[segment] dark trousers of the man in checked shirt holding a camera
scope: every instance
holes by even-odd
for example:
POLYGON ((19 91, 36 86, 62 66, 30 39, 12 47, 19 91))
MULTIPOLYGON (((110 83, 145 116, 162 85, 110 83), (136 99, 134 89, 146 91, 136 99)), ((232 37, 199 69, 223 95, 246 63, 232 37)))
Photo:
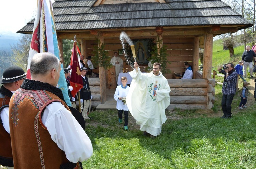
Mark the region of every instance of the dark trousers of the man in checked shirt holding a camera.
POLYGON ((231 104, 234 98, 234 94, 223 94, 221 100, 221 107, 223 112, 223 117, 231 117, 231 104))

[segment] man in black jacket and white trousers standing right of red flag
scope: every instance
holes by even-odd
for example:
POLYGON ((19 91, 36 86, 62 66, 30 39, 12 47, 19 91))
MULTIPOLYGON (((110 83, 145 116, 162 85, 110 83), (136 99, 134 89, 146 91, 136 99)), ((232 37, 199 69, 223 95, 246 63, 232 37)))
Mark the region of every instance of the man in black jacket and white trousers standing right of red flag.
POLYGON ((81 113, 84 117, 84 120, 86 120, 86 119, 90 119, 90 117, 88 117, 88 108, 90 105, 90 100, 93 98, 93 96, 91 95, 89 81, 88 81, 88 78, 86 77, 86 73, 88 71, 87 68, 81 67, 80 71, 81 71, 81 76, 83 80, 83 88, 80 89, 80 104, 81 104, 81 111, 82 111, 81 113))

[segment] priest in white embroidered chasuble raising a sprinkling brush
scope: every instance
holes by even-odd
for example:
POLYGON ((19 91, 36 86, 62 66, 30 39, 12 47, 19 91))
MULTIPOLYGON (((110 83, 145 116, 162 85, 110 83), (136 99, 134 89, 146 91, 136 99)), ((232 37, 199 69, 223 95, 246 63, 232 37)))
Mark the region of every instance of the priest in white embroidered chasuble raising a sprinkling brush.
POLYGON ((165 109, 170 105, 170 86, 160 72, 160 63, 154 63, 150 73, 141 73, 137 62, 134 67, 136 69, 129 72, 133 80, 126 104, 143 134, 155 138, 160 135, 162 124, 166 121, 165 109))

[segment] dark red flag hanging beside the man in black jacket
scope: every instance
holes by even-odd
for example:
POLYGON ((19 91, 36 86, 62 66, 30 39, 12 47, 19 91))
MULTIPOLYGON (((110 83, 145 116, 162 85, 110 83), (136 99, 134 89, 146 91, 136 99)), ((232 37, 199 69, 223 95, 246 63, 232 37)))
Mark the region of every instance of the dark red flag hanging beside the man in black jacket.
POLYGON ((72 97, 75 97, 76 93, 82 89, 83 87, 83 80, 80 72, 78 57, 75 50, 75 43, 71 55, 72 67, 71 67, 71 76, 70 76, 70 86, 73 87, 71 91, 72 97))

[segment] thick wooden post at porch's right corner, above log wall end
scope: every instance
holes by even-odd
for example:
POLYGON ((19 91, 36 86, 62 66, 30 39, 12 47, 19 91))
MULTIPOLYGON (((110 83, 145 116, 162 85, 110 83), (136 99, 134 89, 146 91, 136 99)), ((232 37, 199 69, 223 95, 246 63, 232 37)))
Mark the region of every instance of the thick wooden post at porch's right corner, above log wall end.
POLYGON ((212 77, 212 45, 213 34, 205 34, 203 51, 203 79, 211 79, 212 77))

